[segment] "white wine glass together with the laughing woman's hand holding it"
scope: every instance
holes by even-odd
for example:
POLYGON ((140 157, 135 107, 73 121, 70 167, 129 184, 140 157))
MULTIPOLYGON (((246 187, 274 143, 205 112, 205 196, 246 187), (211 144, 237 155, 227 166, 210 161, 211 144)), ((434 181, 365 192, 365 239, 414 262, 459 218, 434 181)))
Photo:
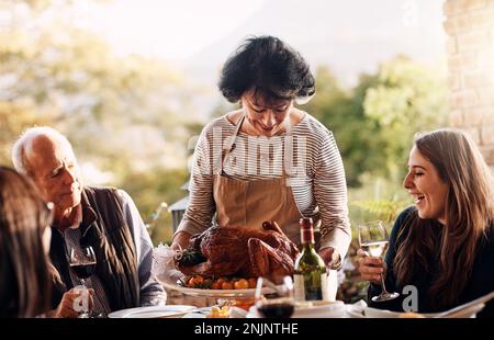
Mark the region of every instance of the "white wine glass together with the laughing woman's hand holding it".
POLYGON ((362 280, 380 284, 382 292, 379 296, 372 297, 373 302, 384 302, 400 296, 398 293, 389 293, 385 286, 385 262, 382 256, 389 245, 389 235, 385 225, 381 220, 359 225, 359 243, 362 249, 358 254, 359 271, 362 280))

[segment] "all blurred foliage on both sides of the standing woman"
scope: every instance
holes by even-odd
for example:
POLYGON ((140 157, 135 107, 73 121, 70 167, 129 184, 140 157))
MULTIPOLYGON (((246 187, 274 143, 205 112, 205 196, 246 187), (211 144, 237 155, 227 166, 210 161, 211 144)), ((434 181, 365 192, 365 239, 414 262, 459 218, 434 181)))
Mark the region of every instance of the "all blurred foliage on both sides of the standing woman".
MULTIPOLYGON (((114 55, 98 35, 71 25, 64 12, 71 4, 0 2, 13 13, 0 29, 0 162, 11 165, 23 129, 54 126, 71 140, 88 183, 123 188, 150 222, 161 202, 187 195, 189 141, 232 105, 217 92, 217 105, 203 112, 193 100, 203 89, 161 60, 114 55)), ((351 89, 328 65, 315 75, 317 94, 301 109, 335 135, 352 224, 392 222, 411 203, 401 183, 414 134, 446 125, 445 72, 396 56, 351 89)), ((169 241, 170 214, 150 230, 155 243, 169 241)))

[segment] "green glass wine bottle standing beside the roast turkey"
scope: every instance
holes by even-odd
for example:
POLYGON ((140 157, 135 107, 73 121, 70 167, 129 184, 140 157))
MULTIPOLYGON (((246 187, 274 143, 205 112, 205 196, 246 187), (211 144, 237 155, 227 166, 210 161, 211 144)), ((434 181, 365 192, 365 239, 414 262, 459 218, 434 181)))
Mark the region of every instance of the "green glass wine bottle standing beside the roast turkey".
POLYGON ((312 218, 300 219, 302 252, 295 260, 295 301, 327 301, 326 264, 314 249, 312 218))

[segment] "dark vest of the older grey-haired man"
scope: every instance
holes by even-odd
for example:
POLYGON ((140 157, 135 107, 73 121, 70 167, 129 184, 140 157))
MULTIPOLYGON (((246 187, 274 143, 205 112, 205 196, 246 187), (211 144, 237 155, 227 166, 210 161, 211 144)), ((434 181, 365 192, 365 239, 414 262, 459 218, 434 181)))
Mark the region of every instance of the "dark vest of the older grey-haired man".
MULTIPOLYGON (((91 246, 97 257, 96 274, 100 279, 111 310, 139 306, 139 281, 133 233, 125 222, 123 202, 116 189, 85 188, 81 197, 81 246, 91 246)), ((68 252, 61 233, 53 228, 49 251, 60 274, 53 308, 63 294, 72 287, 68 252)))

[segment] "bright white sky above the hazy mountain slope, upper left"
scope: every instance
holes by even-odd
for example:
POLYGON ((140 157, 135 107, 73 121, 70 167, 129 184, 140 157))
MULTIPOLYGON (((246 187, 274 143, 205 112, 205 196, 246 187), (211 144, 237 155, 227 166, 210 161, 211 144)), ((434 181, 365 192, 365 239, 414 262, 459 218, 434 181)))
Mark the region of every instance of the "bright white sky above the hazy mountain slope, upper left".
POLYGON ((79 24, 106 37, 120 55, 183 60, 235 30, 265 0, 77 1, 79 24), (239 9, 242 7, 242 10, 239 9))

